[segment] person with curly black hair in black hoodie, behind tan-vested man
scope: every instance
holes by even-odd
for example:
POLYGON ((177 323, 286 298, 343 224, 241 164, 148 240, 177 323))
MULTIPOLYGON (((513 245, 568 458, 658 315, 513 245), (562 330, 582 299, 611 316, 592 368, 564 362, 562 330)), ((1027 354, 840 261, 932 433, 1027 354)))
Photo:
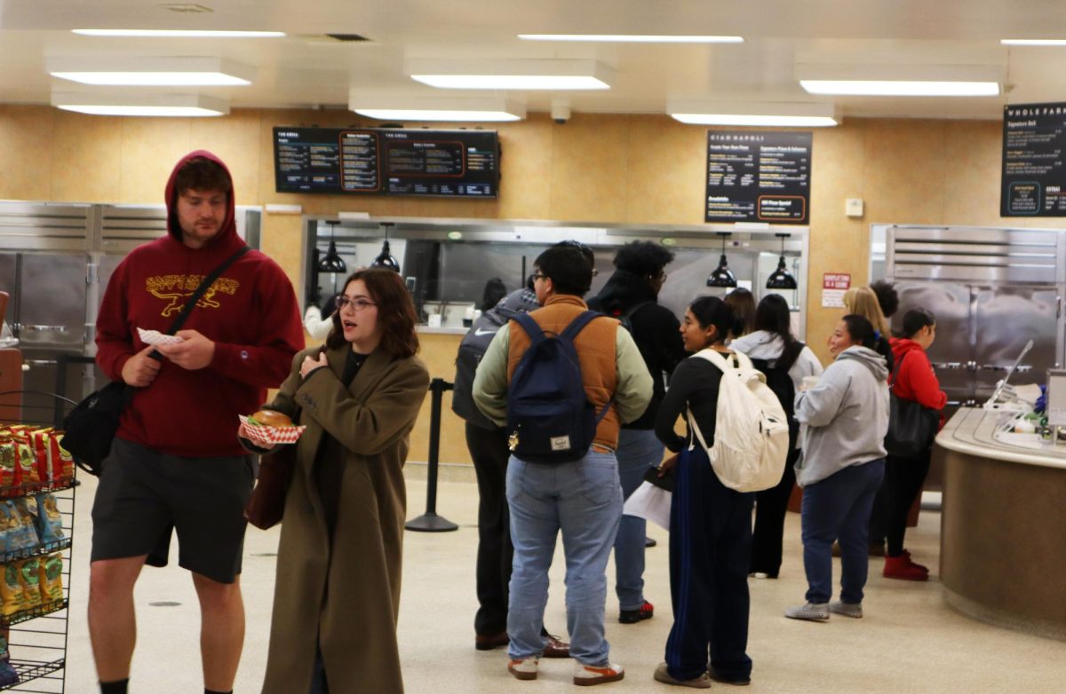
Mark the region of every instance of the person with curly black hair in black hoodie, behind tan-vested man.
MULTIPOLYGON (((666 392, 665 383, 674 367, 685 358, 678 321, 674 313, 658 303, 666 281, 665 267, 674 253, 659 244, 634 241, 618 249, 614 275, 600 293, 588 301, 593 311, 621 319, 633 335, 641 357, 651 374, 651 403, 644 414, 624 425, 618 436, 618 475, 621 492, 629 498, 643 481, 648 467, 662 461, 663 445, 656 439, 656 414, 666 392)), ((624 515, 614 543, 615 592, 623 624, 651 618, 655 606, 644 599, 644 518, 624 515)))

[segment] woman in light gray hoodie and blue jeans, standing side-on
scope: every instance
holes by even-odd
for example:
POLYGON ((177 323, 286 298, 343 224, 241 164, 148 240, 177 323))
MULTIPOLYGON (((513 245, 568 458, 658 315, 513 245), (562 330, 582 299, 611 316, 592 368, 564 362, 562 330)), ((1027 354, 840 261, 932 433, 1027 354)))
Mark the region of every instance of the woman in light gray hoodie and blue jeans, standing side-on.
MULTIPOLYGON (((883 341, 882 341, 883 342, 883 341)), ((789 608, 793 619, 862 616, 870 509, 885 476, 888 366, 873 326, 846 315, 829 337, 836 361, 819 384, 796 396, 804 425, 796 482, 803 488, 801 522, 807 602, 789 608), (833 542, 841 550, 840 600, 833 596, 833 542)))

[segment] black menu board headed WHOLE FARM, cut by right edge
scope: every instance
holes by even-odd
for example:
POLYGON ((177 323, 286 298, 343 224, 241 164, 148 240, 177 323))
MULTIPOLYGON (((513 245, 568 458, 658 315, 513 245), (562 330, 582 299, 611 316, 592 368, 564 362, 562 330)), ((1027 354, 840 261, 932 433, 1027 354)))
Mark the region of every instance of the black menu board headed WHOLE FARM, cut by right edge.
POLYGON ((1066 217, 1066 104, 1003 106, 1002 217, 1066 217))

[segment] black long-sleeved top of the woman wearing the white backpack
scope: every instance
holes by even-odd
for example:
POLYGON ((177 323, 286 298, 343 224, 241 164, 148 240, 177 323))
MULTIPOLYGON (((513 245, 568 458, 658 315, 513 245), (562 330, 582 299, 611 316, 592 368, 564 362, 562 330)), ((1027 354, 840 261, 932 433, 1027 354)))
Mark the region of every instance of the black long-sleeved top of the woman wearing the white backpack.
POLYGON ((656 415, 656 436, 659 441, 674 452, 685 446, 688 439, 682 439, 674 432, 674 424, 684 414, 685 408, 689 408, 696 424, 699 425, 704 441, 708 446, 712 446, 721 383, 722 371, 701 357, 690 357, 678 364, 656 415))

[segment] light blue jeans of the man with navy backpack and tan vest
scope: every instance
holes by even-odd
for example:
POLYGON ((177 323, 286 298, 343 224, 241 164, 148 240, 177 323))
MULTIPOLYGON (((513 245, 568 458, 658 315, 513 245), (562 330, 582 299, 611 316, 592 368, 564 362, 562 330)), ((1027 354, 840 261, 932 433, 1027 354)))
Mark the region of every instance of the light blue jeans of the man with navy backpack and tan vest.
POLYGON ((621 485, 614 453, 589 451, 574 463, 507 461, 507 502, 515 558, 507 635, 512 659, 539 656, 548 568, 555 536, 566 557, 566 625, 570 656, 586 665, 608 662, 603 637, 607 560, 621 518, 621 485))

